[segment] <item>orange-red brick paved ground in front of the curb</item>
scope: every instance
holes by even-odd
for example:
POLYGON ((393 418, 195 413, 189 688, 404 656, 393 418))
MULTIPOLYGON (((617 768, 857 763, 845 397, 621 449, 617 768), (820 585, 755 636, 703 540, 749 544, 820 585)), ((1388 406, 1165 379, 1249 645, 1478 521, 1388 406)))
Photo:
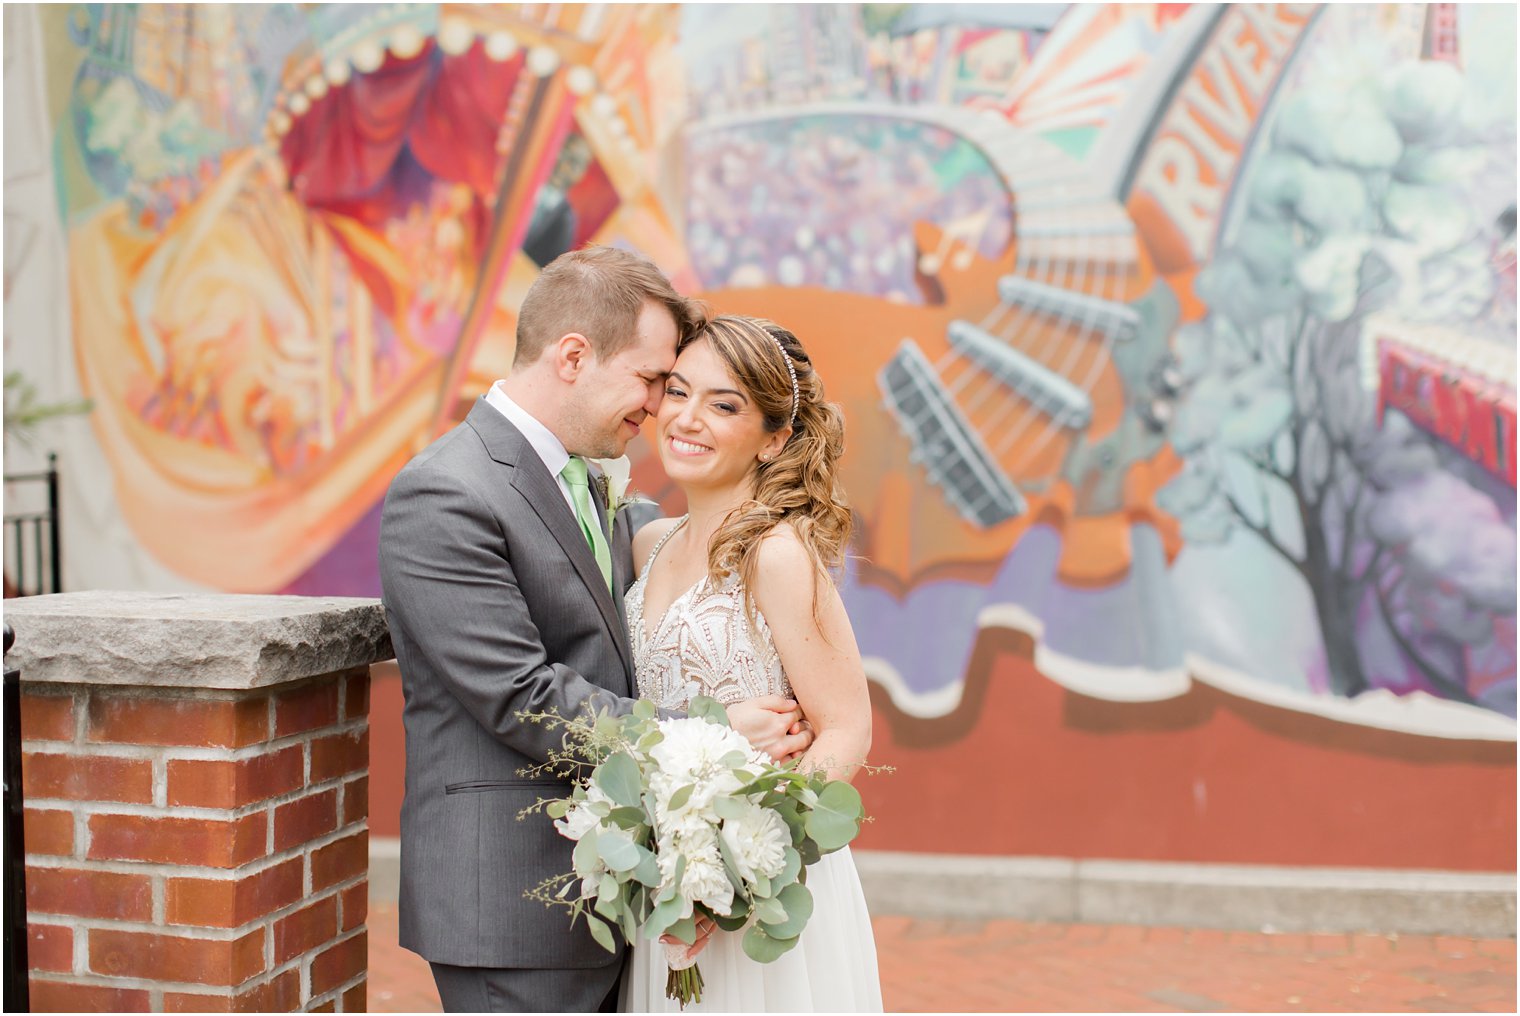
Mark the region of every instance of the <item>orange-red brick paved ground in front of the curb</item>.
MULTIPOLYGON (((1515 1011, 1515 943, 877 917, 889 1011, 1515 1011)), ((438 1011, 427 964, 369 911, 369 1008, 438 1011)))

